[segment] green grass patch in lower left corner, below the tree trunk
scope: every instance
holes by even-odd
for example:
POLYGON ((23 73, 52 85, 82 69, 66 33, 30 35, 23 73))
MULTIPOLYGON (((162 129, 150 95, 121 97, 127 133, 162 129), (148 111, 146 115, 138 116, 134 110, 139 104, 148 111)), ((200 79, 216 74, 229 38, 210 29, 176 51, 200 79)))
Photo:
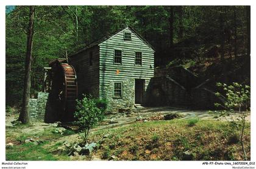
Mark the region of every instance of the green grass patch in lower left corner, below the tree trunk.
POLYGON ((52 153, 51 150, 59 147, 61 143, 56 143, 51 148, 46 148, 46 145, 54 142, 60 137, 74 134, 73 131, 66 131, 63 135, 59 133, 52 133, 55 128, 44 129, 44 131, 35 134, 24 134, 19 132, 19 127, 22 129, 29 126, 15 126, 15 128, 10 130, 11 132, 6 132, 6 142, 14 143, 13 147, 5 149, 6 160, 70 160, 69 156, 66 156, 66 154, 52 153), (40 143, 39 145, 35 145, 34 142, 25 143, 25 140, 29 138, 41 140, 43 143, 40 143))

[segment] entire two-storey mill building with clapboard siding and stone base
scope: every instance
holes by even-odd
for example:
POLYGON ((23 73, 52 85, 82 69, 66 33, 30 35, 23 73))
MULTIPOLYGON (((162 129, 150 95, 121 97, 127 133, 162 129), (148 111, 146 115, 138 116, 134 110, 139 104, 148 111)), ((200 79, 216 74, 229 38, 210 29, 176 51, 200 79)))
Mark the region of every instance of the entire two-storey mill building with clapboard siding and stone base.
POLYGON ((154 48, 131 27, 104 36, 69 56, 78 95, 105 99, 108 110, 143 104, 154 77, 154 48))

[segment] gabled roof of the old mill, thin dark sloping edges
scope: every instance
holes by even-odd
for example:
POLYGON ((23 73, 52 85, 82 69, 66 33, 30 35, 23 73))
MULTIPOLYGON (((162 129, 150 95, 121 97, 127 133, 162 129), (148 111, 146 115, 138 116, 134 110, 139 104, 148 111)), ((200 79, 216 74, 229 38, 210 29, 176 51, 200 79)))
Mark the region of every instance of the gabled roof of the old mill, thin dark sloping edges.
MULTIPOLYGON (((155 51, 155 48, 154 48, 147 40, 145 40, 145 39, 143 38, 143 36, 141 36, 139 33, 137 33, 137 32, 136 32, 132 27, 130 27, 130 26, 127 26, 127 27, 125 27, 124 29, 127 29, 127 28, 129 28, 130 30, 132 30, 132 32, 135 33, 135 35, 137 35, 138 38, 140 38, 144 43, 146 43, 149 47, 151 47, 151 49, 153 49, 153 50, 155 51)), ((91 47, 94 47, 94 46, 96 46, 96 45, 101 44, 102 42, 108 40, 109 38, 111 38, 112 36, 116 35, 117 33, 121 32, 121 31, 124 30, 124 29, 119 29, 119 30, 117 30, 116 32, 110 33, 110 34, 108 34, 108 35, 105 35, 105 36, 99 38, 98 40, 93 41, 92 43, 88 44, 88 45, 85 46, 83 49, 78 50, 76 53, 73 53, 73 54, 70 55, 69 57, 73 57, 73 56, 76 55, 77 53, 83 52, 83 51, 85 51, 85 50, 87 50, 87 49, 89 49, 89 48, 91 48, 91 47)))

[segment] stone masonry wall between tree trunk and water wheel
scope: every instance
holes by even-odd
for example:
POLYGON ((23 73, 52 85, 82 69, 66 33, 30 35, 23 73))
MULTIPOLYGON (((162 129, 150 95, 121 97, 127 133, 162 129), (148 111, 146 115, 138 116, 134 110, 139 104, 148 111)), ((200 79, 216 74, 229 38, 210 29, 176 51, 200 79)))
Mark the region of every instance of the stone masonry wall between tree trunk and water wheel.
POLYGON ((29 99, 29 113, 32 121, 44 121, 49 93, 38 92, 37 98, 29 99))

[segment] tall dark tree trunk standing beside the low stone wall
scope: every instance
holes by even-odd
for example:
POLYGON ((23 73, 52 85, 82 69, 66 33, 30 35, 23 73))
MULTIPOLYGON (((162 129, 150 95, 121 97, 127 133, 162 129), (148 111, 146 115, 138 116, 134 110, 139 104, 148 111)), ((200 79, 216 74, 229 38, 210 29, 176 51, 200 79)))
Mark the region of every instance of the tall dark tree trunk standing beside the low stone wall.
POLYGON ((34 34, 34 18, 35 18, 35 7, 29 7, 29 27, 27 28, 27 52, 25 62, 25 77, 24 77, 24 91, 23 91, 23 105, 19 119, 23 124, 29 123, 29 96, 30 96, 30 71, 32 61, 32 45, 33 45, 33 34, 34 34))

